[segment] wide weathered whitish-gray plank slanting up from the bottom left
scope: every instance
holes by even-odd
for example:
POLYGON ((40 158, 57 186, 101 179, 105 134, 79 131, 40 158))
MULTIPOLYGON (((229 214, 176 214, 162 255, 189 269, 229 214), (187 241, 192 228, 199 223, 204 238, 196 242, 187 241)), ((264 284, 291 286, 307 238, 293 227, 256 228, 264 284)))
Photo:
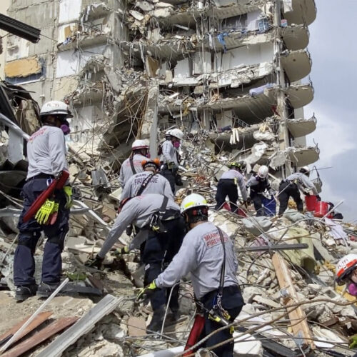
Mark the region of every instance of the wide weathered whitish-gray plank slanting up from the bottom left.
POLYGON ((49 346, 47 346, 37 357, 61 356, 72 343, 75 343, 82 335, 91 331, 91 328, 104 316, 116 308, 123 298, 116 298, 110 294, 104 296, 91 310, 89 310, 79 321, 61 334, 49 346))

